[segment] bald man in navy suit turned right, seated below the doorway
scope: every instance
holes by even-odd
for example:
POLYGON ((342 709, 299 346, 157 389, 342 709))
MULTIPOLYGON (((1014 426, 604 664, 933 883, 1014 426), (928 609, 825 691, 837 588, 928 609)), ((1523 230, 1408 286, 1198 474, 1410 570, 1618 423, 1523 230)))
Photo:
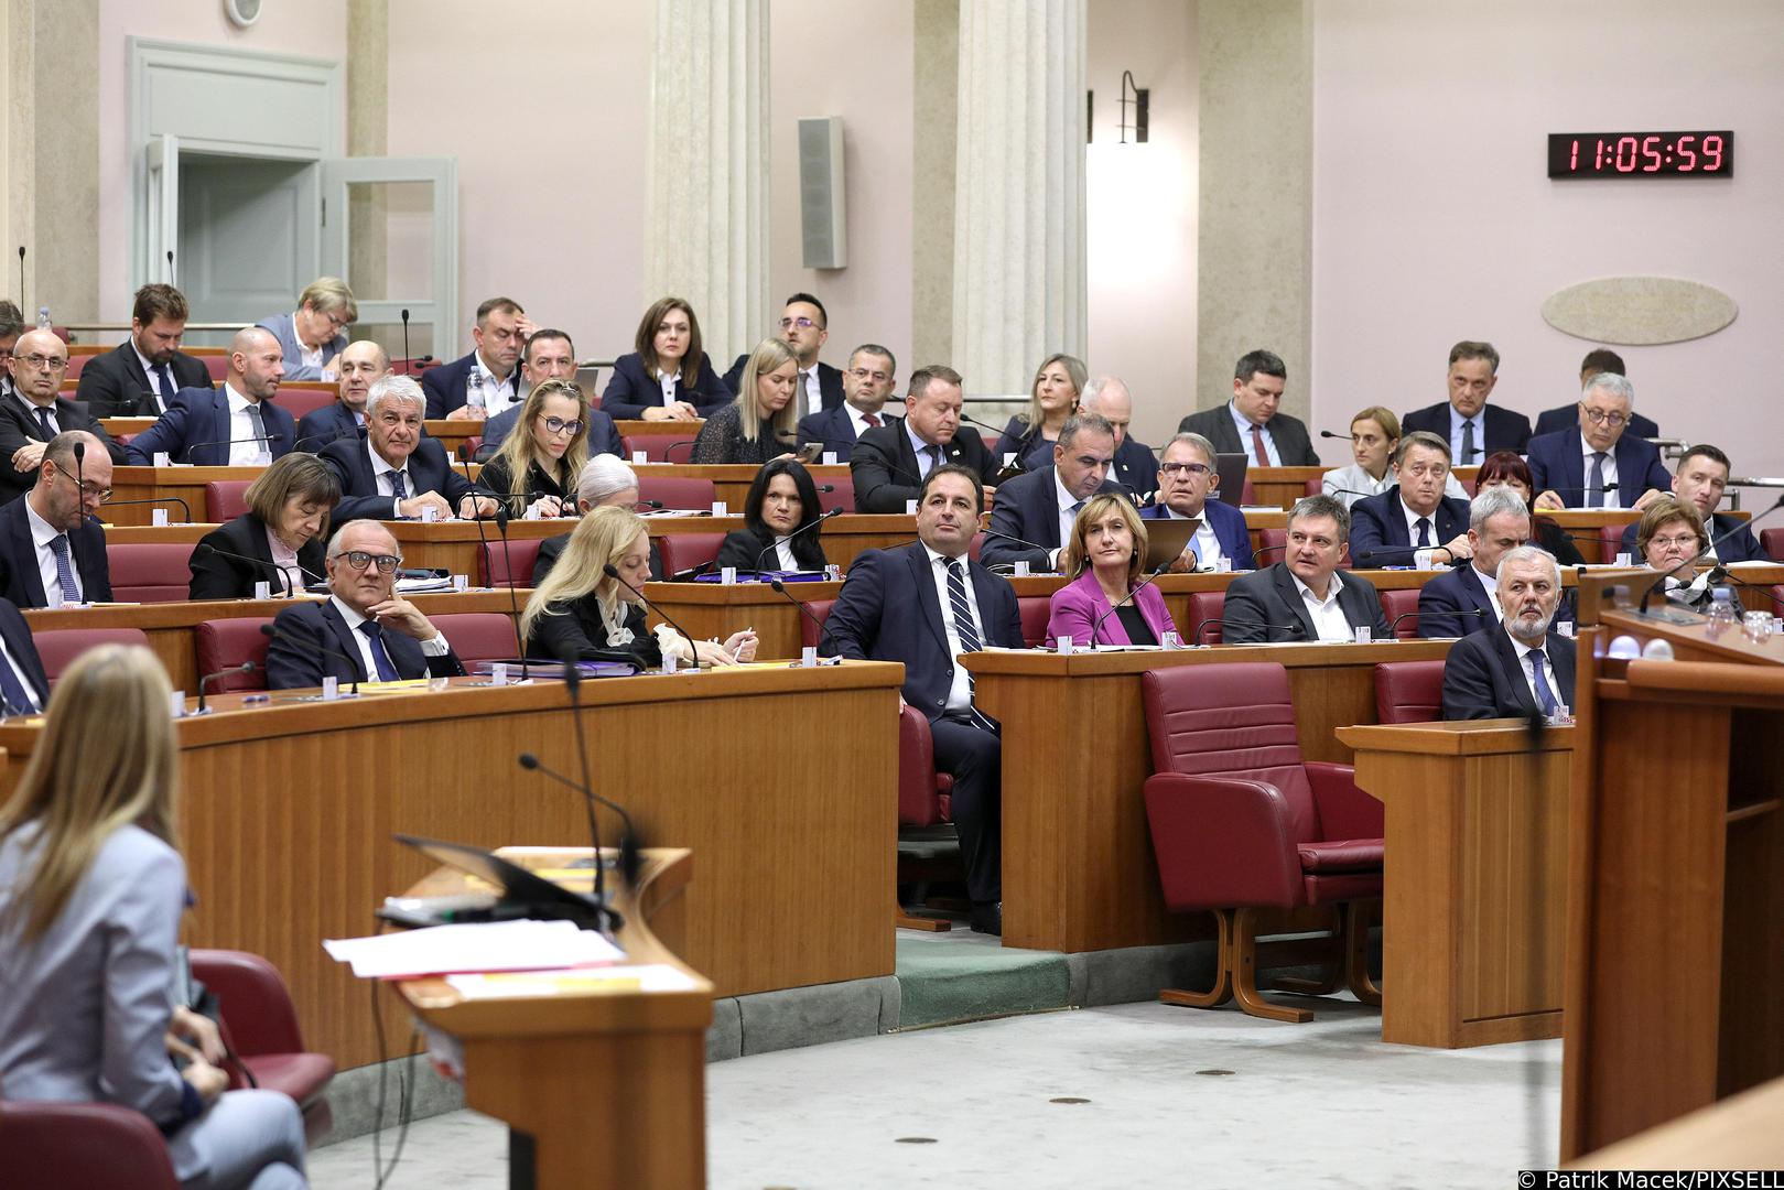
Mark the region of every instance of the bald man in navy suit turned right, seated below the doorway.
POLYGON ((168 412, 132 439, 130 462, 150 466, 166 453, 200 467, 253 467, 291 453, 298 423, 271 401, 284 376, 278 339, 260 326, 237 330, 223 387, 180 389, 168 412))

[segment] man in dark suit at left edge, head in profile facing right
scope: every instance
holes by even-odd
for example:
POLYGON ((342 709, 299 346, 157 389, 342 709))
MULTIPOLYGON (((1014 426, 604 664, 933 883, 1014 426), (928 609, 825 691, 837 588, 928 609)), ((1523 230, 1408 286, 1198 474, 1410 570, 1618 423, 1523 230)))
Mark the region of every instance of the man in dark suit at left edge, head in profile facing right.
POLYGON ((20 607, 111 601, 98 521, 111 476, 111 457, 86 430, 50 439, 36 487, 0 505, 0 596, 20 607), (77 442, 82 459, 75 459, 77 442))

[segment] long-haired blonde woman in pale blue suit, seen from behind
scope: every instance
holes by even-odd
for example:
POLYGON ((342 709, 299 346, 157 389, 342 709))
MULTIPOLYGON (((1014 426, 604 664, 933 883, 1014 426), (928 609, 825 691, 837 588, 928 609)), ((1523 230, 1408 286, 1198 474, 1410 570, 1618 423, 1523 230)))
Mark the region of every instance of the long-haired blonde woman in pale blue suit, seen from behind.
POLYGON ((169 694, 146 648, 84 653, 0 805, 0 1087, 141 1111, 182 1186, 303 1186, 298 1104, 227 1090, 216 1026, 171 1001, 189 894, 169 694))

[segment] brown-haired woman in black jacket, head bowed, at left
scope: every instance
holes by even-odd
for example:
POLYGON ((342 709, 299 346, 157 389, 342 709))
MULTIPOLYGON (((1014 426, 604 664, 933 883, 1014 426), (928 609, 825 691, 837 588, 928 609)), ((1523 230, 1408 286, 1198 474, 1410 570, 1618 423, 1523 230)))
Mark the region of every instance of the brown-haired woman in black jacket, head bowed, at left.
POLYGON ((205 533, 193 550, 189 598, 250 599, 255 583, 278 596, 326 582, 328 514, 341 503, 334 469, 316 455, 291 453, 262 471, 243 498, 248 512, 205 533))

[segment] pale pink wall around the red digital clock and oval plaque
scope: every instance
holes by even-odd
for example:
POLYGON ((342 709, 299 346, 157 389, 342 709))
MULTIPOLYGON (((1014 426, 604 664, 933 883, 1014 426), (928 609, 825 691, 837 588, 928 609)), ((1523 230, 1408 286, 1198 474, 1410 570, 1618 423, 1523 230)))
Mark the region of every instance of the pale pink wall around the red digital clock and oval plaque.
POLYGON ((1739 305, 1693 343, 1618 348, 1661 432, 1784 471, 1768 376, 1784 287, 1784 7, 1729 0, 1315 5, 1313 414, 1443 400, 1449 346, 1491 339, 1493 400, 1577 396, 1595 344, 1540 316, 1556 289, 1650 273, 1739 305), (1734 128, 1727 180, 1550 182, 1545 136, 1734 128))

